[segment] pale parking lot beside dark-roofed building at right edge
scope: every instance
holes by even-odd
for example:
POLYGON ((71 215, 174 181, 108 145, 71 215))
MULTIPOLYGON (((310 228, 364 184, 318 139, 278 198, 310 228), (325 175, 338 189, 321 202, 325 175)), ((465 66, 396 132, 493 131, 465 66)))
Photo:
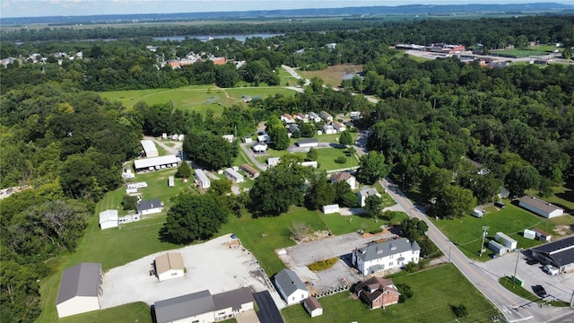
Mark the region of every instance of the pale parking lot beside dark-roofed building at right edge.
POLYGON ((496 281, 502 276, 514 275, 516 267, 517 277, 524 281, 523 287, 534 294, 532 286, 542 285, 549 295, 545 298, 546 301, 558 299, 568 302, 574 289, 574 273, 553 276, 545 274, 541 264, 526 264, 526 256, 519 252, 509 253, 485 263, 476 262, 475 265, 492 275, 496 281))

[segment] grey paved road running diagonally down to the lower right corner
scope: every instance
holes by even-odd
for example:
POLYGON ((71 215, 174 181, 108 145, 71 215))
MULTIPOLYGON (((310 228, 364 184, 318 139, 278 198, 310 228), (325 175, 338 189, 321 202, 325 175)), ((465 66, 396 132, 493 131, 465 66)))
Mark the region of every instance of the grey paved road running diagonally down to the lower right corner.
MULTIPOLYGON (((360 155, 366 152, 364 144, 367 135, 368 132, 361 132, 361 135, 355 142, 355 148, 360 155)), ((445 255, 450 255, 450 261, 457 266, 466 279, 474 284, 500 310, 508 322, 574 322, 574 311, 570 308, 550 308, 545 306, 540 308, 538 304, 526 301, 506 290, 498 281, 493 280, 491 275, 488 275, 483 268, 476 266, 474 260, 467 258, 465 254, 457 249, 457 246, 448 240, 447 236, 439 231, 437 226, 425 214, 422 214, 420 208, 413 205, 413 202, 404 196, 403 192, 393 182, 388 179, 381 179, 380 184, 387 189, 387 193, 395 199, 396 203, 403 208, 406 214, 427 223, 429 226, 429 231, 427 231, 429 238, 439 247, 440 251, 445 255)))

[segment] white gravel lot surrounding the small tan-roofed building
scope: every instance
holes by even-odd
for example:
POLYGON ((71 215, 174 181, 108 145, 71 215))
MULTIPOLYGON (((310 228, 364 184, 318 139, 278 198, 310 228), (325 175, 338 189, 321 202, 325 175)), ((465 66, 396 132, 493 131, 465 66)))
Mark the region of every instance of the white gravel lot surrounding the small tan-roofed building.
MULTIPOLYGON (((149 275, 153 259, 167 251, 140 258, 125 266, 110 269, 104 274, 102 309, 144 301, 152 305, 172 297, 209 290, 212 294, 227 292, 240 287, 251 287, 254 292, 269 287, 257 260, 242 246, 230 248, 231 234, 170 251, 180 252, 187 274, 159 282, 149 275)), ((272 292, 275 300, 280 299, 272 292)), ((280 304, 279 301, 276 301, 280 304)))

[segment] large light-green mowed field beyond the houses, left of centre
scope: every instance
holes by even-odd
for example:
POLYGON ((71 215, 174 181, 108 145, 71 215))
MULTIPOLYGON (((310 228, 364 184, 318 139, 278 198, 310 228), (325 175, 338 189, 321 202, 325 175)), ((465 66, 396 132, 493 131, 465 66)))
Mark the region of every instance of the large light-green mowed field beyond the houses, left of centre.
POLYGON ((184 111, 195 110, 205 113, 208 109, 220 114, 223 107, 232 104, 244 104, 243 95, 265 99, 276 93, 294 95, 295 92, 283 87, 239 87, 221 89, 216 86, 185 86, 178 89, 152 89, 152 90, 129 90, 100 92, 103 98, 120 101, 126 109, 133 109, 137 102, 145 102, 148 105, 171 102, 175 109, 184 111))

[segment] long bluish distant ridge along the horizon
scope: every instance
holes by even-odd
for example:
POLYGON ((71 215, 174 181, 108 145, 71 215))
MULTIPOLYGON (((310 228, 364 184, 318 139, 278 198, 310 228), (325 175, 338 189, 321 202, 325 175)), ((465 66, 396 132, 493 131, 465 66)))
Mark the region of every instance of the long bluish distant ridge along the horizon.
POLYGON ((301 18, 321 16, 370 16, 370 15, 457 15, 471 13, 574 13, 574 4, 410 4, 397 6, 363 6, 324 9, 258 10, 245 12, 212 13, 138 13, 138 14, 102 14, 84 16, 48 16, 0 18, 0 24, 27 25, 33 23, 90 24, 117 22, 170 22, 193 20, 238 20, 257 18, 301 18))

